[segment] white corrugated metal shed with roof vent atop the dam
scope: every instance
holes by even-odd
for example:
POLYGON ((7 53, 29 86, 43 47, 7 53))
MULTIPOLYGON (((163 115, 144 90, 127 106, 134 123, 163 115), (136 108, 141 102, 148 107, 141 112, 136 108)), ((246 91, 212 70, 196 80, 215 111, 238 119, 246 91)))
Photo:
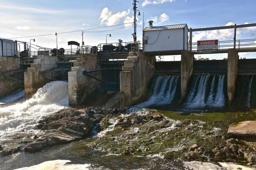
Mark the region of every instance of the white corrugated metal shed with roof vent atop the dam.
POLYGON ((187 24, 170 26, 149 26, 143 30, 143 44, 145 53, 166 53, 188 50, 187 24))

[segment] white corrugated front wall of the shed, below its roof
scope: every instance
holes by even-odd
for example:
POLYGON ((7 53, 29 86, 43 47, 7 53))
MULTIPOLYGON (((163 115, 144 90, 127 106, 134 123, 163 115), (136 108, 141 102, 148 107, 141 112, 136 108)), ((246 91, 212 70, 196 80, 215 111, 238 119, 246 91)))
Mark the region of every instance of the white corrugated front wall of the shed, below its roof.
POLYGON ((183 50, 183 28, 146 31, 144 32, 144 36, 148 36, 148 44, 145 44, 144 46, 145 52, 183 50))

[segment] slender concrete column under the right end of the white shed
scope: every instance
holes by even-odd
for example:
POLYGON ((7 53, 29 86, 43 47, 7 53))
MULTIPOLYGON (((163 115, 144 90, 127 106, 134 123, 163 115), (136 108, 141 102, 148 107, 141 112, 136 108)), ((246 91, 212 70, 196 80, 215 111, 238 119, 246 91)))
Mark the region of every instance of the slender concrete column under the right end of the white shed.
POLYGON ((193 74, 193 63, 194 63, 194 54, 189 53, 189 51, 182 51, 181 53, 181 99, 180 102, 185 99, 189 80, 193 74))

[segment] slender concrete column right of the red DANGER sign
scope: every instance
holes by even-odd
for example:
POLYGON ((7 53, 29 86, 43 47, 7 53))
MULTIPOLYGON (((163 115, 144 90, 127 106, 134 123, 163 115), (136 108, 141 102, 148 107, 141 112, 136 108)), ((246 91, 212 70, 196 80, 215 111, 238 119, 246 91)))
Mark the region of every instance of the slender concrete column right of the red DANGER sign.
POLYGON ((234 99, 236 90, 236 77, 237 77, 237 65, 238 65, 238 52, 236 49, 228 49, 227 54, 227 96, 228 105, 230 105, 234 99))

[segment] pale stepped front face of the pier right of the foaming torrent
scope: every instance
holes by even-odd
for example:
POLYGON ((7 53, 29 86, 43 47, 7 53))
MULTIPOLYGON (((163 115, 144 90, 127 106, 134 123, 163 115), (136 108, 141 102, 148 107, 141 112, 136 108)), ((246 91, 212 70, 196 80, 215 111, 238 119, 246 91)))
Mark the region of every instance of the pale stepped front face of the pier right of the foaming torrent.
POLYGON ((72 67, 71 71, 68 72, 68 99, 69 105, 79 105, 79 91, 82 84, 82 67, 72 67))

